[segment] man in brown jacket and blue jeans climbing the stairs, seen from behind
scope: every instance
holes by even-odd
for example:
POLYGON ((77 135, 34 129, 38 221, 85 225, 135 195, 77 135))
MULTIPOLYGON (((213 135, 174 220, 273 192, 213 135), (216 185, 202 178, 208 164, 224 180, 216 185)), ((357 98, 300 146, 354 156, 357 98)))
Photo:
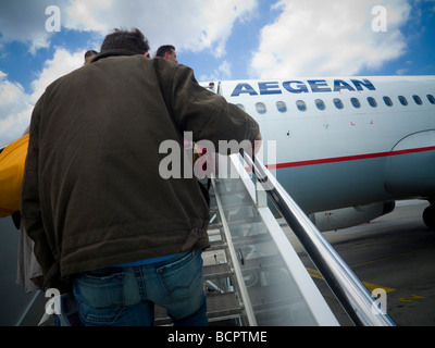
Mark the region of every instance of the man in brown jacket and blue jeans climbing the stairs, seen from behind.
POLYGON ((201 250, 209 208, 195 177, 163 178, 167 139, 260 139, 259 126, 192 71, 149 59, 138 30, 115 30, 92 62, 35 105, 22 214, 46 287, 74 289, 87 325, 207 324, 201 250))

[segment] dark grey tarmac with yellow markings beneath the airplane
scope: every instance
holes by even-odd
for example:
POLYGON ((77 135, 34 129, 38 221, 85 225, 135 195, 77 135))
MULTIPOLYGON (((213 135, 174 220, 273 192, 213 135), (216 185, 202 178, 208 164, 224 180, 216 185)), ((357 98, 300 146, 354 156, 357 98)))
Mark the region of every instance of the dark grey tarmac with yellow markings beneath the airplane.
MULTIPOLYGON (((435 231, 422 220, 427 206, 397 202, 370 223, 323 234, 398 326, 435 325, 435 231)), ((338 322, 353 325, 296 237, 285 232, 338 322)))

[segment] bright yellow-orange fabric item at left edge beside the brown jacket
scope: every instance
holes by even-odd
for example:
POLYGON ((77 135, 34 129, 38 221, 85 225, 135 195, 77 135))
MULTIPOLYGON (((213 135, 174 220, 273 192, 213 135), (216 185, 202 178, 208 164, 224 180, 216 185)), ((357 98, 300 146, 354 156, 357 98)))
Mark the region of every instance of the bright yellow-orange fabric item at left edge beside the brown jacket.
POLYGON ((0 153, 0 217, 20 210, 28 134, 8 145, 0 153))

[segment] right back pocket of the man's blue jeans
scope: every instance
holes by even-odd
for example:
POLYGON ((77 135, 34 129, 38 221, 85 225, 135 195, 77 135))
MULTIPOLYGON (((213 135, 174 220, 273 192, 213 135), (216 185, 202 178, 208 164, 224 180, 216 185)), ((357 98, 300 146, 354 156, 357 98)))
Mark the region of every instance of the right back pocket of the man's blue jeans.
POLYGON ((192 251, 183 259, 157 269, 170 302, 201 296, 203 288, 202 258, 200 251, 192 251))

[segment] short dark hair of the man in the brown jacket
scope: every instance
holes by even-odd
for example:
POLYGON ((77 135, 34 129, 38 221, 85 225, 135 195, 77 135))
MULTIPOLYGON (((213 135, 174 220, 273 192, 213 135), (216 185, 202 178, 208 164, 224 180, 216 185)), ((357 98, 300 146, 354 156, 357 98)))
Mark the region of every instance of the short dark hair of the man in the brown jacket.
POLYGON ((101 52, 109 50, 127 50, 136 54, 145 54, 150 47, 147 38, 138 29, 134 28, 128 32, 126 29, 114 29, 109 34, 101 45, 101 52))

